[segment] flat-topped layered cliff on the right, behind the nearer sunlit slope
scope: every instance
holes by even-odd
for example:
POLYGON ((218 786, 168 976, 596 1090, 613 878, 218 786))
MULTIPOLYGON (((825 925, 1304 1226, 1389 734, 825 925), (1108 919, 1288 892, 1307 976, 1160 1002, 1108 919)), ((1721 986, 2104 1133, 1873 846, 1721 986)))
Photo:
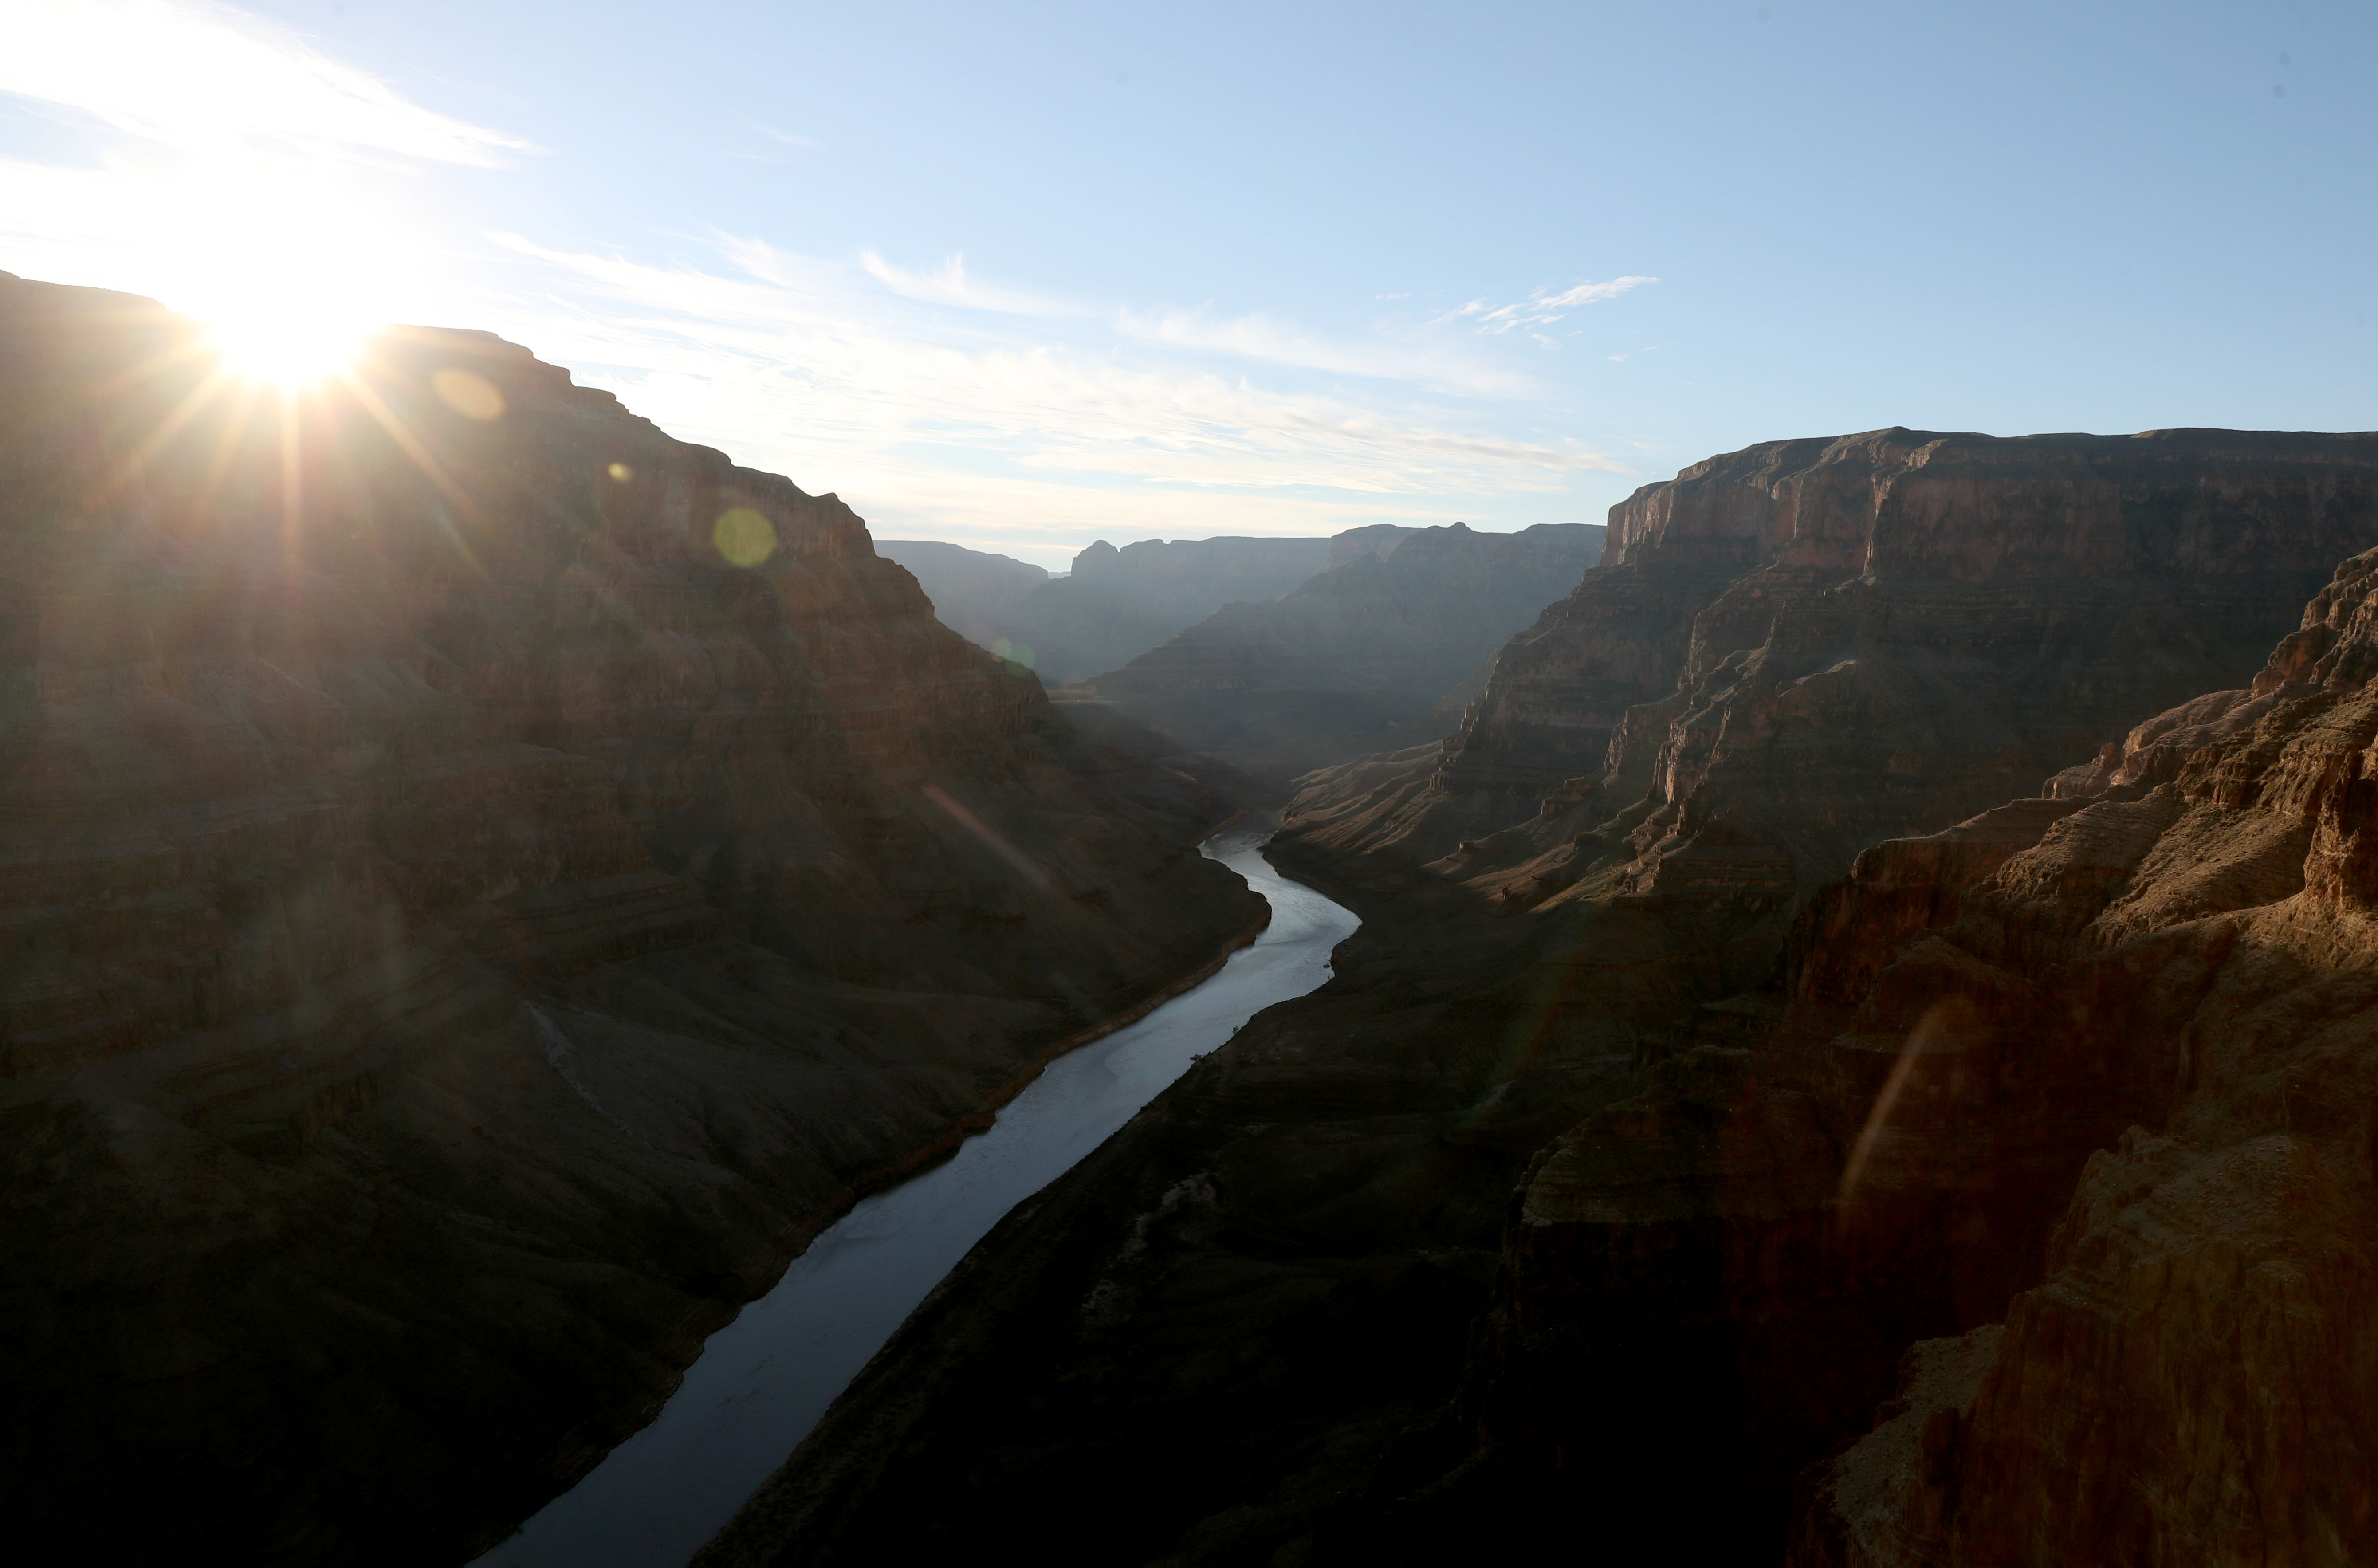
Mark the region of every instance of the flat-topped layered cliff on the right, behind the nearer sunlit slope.
POLYGON ((1589 859, 1755 902, 2242 678, 2378 542, 2373 485, 2366 435, 1876 431, 1712 457, 1610 512, 1603 564, 1503 650, 1441 757, 1320 780, 1289 835, 1420 864, 1524 823, 1486 857, 1510 866, 1634 811, 1589 859))

